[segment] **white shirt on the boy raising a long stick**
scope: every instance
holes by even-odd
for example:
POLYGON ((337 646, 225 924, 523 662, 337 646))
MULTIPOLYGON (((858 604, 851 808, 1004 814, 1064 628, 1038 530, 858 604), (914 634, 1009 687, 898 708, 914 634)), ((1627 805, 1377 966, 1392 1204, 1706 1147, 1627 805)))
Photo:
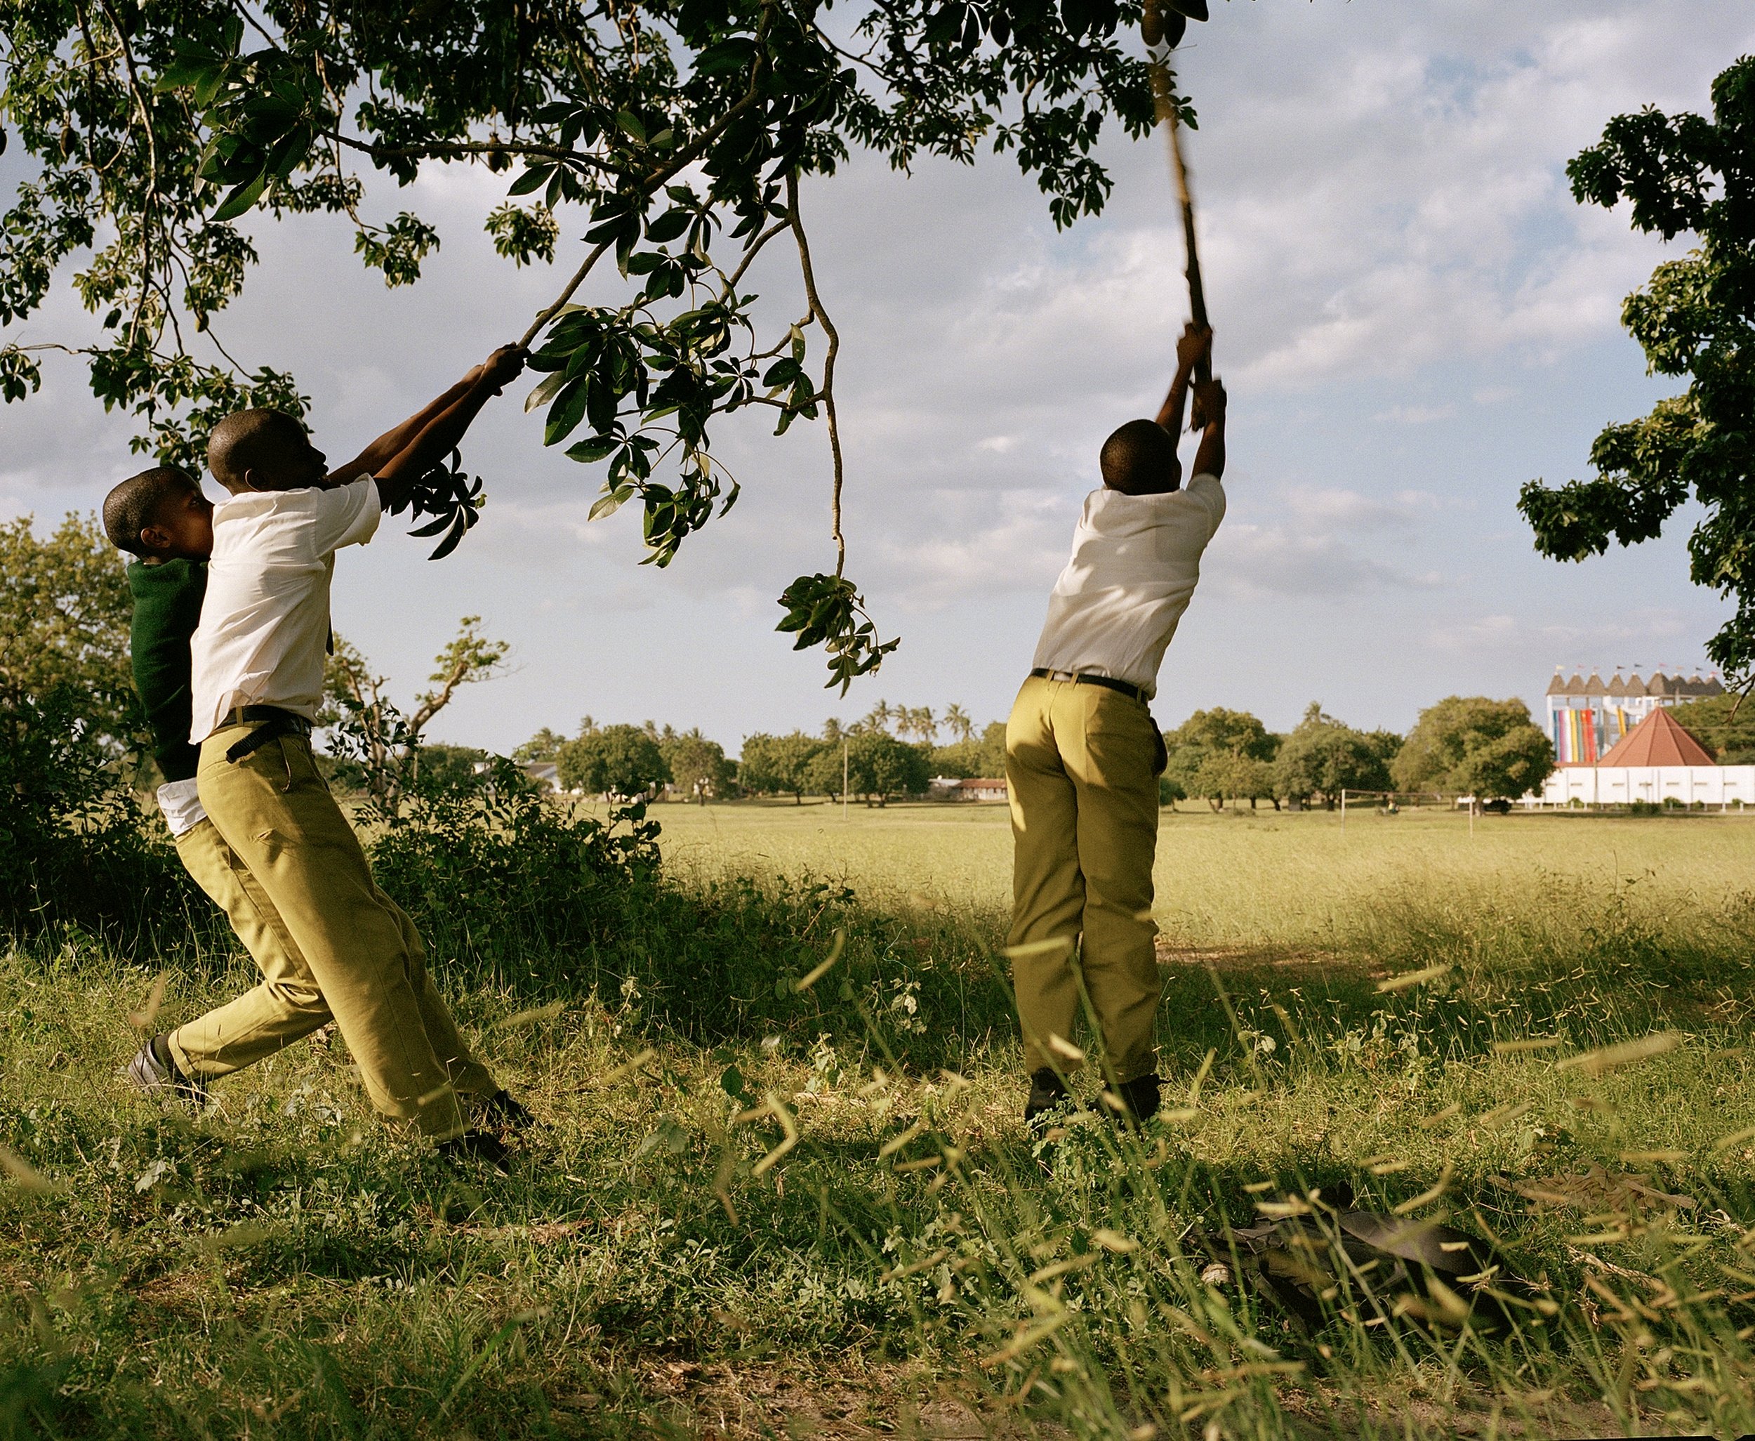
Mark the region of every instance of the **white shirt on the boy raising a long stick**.
POLYGON ((1032 665, 1088 670, 1157 693, 1158 663, 1195 593, 1200 553, 1223 518, 1225 488, 1216 476, 1195 476, 1167 495, 1086 495, 1032 665))

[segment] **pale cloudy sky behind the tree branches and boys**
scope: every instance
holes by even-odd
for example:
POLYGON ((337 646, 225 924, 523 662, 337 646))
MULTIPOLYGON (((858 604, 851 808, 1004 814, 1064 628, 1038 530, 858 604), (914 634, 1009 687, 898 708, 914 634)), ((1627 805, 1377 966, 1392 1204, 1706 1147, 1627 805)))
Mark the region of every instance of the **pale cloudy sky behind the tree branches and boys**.
MULTIPOLYGON (((1706 665, 1727 607, 1688 583, 1695 513, 1571 565, 1536 555, 1516 493, 1587 476, 1602 425, 1676 388, 1644 374, 1618 316, 1687 240, 1580 207, 1565 161, 1618 112, 1708 109, 1713 75, 1750 51, 1748 0, 1216 0, 1190 26, 1179 77, 1200 114, 1188 160, 1230 509, 1158 677, 1165 728, 1230 706, 1283 730, 1318 700, 1406 730, 1453 693, 1539 709, 1557 665, 1706 665)), ((848 572, 902 637, 849 695, 774 632, 779 591, 834 569, 820 425, 774 439, 762 414, 732 418, 714 449, 742 497, 658 570, 639 563, 635 509, 586 520, 598 477, 542 448, 523 381, 465 441, 481 525, 433 563, 386 518, 340 556, 335 628, 409 700, 456 621, 481 616, 511 669, 462 692, 432 739, 502 751, 584 714, 700 727, 732 753, 879 697, 1004 718, 1102 437, 1155 412, 1186 319, 1162 139, 1116 130, 1100 158, 1109 205, 1060 233, 1009 156, 911 174, 855 156, 804 186, 842 337, 848 572)), ((18 163, 16 147, 0 160, 0 195, 18 163)), ((555 267, 493 255, 479 226, 504 184, 432 167, 386 191, 442 235, 426 279, 393 291, 353 258, 346 221, 254 225, 263 263, 216 328, 247 365, 298 376, 332 456, 514 339, 577 263, 567 216, 555 267)), ((795 307, 779 258, 751 281, 774 314, 795 307)), ((4 335, 84 325, 63 286, 4 335)), ((0 516, 44 528, 97 509, 140 467, 128 435, 77 363, 51 360, 40 395, 0 409, 0 516)))

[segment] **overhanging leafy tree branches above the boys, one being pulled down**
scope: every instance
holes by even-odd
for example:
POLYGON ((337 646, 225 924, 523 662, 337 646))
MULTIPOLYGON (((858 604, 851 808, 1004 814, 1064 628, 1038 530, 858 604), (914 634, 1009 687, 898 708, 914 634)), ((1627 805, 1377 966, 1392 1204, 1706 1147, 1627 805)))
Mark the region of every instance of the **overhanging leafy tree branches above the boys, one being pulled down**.
POLYGON ((544 374, 530 404, 544 444, 602 476, 593 516, 642 505, 648 560, 737 497, 714 418, 827 418, 835 567, 786 588, 781 628, 823 644, 846 688, 893 642, 842 574, 839 337, 800 181, 853 147, 893 165, 992 147, 1071 225, 1109 193, 1092 154, 1106 123, 1153 123, 1144 56, 1123 51, 1139 18, 1134 0, 0 0, 0 109, 32 156, 0 225, 0 325, 37 314, 65 262, 98 318, 84 342, 0 342, 0 395, 25 398, 40 353, 72 349, 93 393, 140 418, 142 449, 190 465, 226 411, 304 409, 283 370, 193 344, 258 262, 253 214, 346 214, 362 263, 411 284, 441 235, 391 216, 386 191, 484 165, 505 177, 483 225, 509 263, 560 260, 563 232, 584 232, 526 335, 544 374), (749 265, 776 239, 797 249, 799 318, 758 337, 749 265), (569 304, 605 258, 616 298, 569 304))

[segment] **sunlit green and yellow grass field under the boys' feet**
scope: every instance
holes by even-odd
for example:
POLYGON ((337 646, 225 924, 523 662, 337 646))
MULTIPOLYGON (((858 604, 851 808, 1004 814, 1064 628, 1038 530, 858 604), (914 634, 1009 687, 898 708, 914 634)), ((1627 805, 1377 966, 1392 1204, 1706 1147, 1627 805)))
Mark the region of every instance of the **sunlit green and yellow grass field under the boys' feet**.
MULTIPOLYGON (((453 988, 546 1122, 507 1178, 309 1044, 149 1108, 116 1069, 156 965, 0 962, 0 1437, 1755 1430, 1755 825, 1165 814, 1171 1111, 1039 1158, 1002 807, 658 818, 686 890, 784 893, 846 958, 691 1041, 614 946, 542 1006, 453 988), (1300 1325, 1209 1271, 1202 1234, 1346 1192, 1495 1237, 1513 1323, 1341 1274, 1300 1325)), ((165 1020, 246 979, 183 965, 165 1020)))

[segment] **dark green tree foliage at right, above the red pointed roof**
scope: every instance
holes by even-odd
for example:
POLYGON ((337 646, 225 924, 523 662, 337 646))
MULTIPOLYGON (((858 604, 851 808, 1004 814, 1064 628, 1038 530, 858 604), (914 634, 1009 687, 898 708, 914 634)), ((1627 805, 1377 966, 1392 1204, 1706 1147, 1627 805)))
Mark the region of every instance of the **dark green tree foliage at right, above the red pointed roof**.
POLYGON ((1734 679, 1755 676, 1755 56, 1713 81, 1713 118, 1646 107, 1616 116, 1567 174, 1580 202, 1632 202, 1636 230, 1695 249, 1627 297, 1622 323, 1650 370, 1688 388, 1597 435, 1592 481, 1523 486, 1518 509, 1557 560, 1650 541, 1690 498, 1695 584, 1736 602, 1708 644, 1734 679))

